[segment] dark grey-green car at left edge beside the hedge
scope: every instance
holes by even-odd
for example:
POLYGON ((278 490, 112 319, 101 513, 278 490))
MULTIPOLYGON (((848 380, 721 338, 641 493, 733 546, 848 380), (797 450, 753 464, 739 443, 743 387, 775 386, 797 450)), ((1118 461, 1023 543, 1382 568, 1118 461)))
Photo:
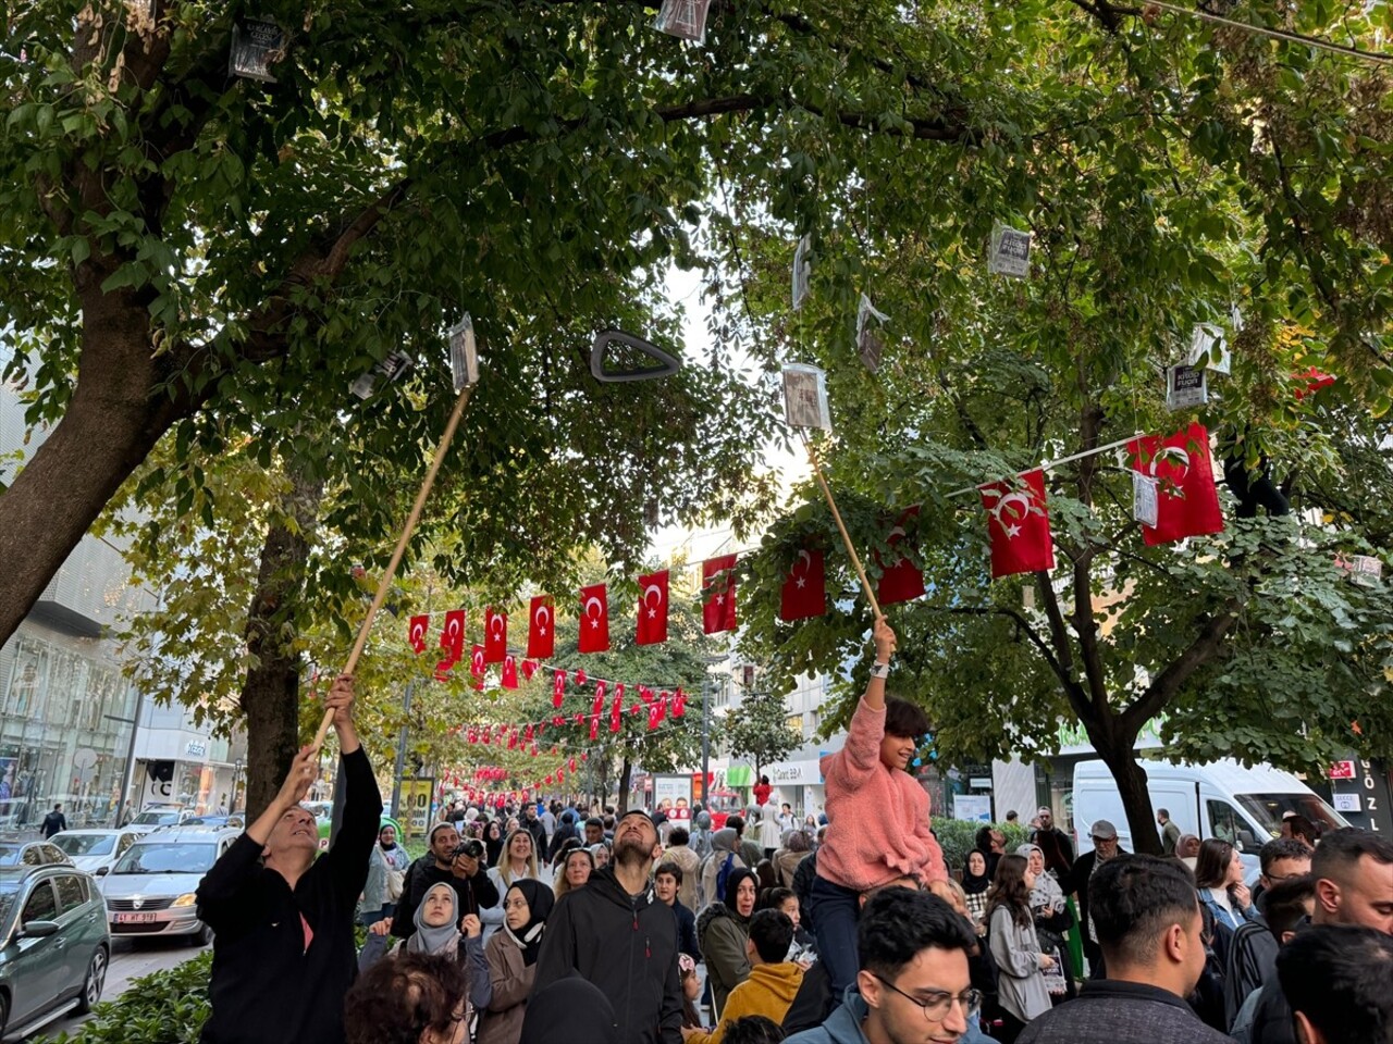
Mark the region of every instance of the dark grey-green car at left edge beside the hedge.
POLYGON ((0 869, 0 1037, 102 998, 111 959, 96 881, 59 863, 0 869))

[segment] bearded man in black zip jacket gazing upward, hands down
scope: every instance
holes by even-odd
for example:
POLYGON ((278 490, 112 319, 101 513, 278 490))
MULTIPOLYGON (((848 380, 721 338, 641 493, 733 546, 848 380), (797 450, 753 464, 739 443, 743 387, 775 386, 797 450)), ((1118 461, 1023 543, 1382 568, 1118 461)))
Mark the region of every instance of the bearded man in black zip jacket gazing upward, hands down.
POLYGON ((660 852, 642 809, 614 827, 613 862, 567 892, 546 922, 532 995, 579 974, 614 1005, 620 1044, 683 1044, 677 920, 648 884, 660 852))

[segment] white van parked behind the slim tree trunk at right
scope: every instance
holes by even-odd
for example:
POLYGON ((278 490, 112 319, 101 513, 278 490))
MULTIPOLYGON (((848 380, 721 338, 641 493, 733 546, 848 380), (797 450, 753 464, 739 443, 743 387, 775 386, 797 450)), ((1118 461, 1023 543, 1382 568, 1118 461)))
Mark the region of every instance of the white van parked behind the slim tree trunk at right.
MULTIPOLYGON (((1146 773, 1152 810, 1166 809, 1181 834, 1195 834, 1201 839, 1222 838, 1233 844, 1248 869, 1250 885, 1258 880, 1258 849, 1282 837, 1284 812, 1305 816, 1319 828, 1350 825, 1309 786, 1272 766, 1244 768, 1233 759, 1209 764, 1138 764, 1146 773)), ((1096 820, 1107 820, 1117 827, 1123 849, 1135 851, 1121 795, 1106 764, 1080 761, 1074 766, 1073 807, 1080 855, 1094 848, 1088 828, 1096 820)))

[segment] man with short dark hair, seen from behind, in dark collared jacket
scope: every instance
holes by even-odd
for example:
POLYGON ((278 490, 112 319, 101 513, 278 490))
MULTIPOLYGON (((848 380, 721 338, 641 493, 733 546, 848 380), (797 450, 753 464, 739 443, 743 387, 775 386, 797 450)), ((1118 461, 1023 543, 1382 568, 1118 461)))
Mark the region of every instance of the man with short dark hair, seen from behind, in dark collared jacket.
POLYGON ((1195 881, 1173 859, 1120 855, 1088 881, 1107 979, 1031 1022, 1018 1044, 1231 1044, 1185 998, 1205 967, 1195 881))

